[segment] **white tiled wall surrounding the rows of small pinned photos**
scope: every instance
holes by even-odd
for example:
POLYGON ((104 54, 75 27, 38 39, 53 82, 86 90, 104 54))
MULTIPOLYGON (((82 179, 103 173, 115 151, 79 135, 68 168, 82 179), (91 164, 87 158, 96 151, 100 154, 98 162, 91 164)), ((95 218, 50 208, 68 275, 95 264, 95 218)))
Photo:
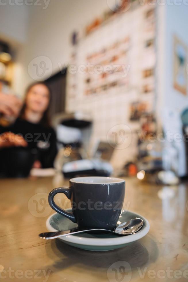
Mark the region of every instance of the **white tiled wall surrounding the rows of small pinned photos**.
MULTIPOLYGON (((155 50, 150 53, 144 51, 145 39, 150 36, 145 32, 144 15, 151 6, 139 6, 137 9, 114 18, 108 24, 102 26, 91 35, 80 40, 76 47, 76 60, 73 63, 87 64, 87 54, 100 51, 103 47, 112 45, 117 40, 126 36, 131 38, 131 48, 128 53, 128 63, 130 72, 128 73, 128 87, 110 89, 94 96, 86 96, 85 75, 77 73, 68 79, 68 97, 66 101, 67 111, 89 112, 93 119, 93 135, 91 143, 94 145, 99 139, 108 142, 108 132, 116 125, 128 125, 132 132, 131 144, 124 149, 120 146, 115 150, 112 163, 115 167, 121 167, 126 161, 133 160, 137 154, 137 134, 138 122, 131 122, 130 103, 138 100, 150 101, 153 106, 154 93, 142 94, 142 69, 153 67, 155 64, 155 50), (76 89, 74 95, 70 90, 70 81, 76 79, 76 89)), ((150 78, 150 79, 154 79, 150 78)), ((152 108, 151 106, 151 108, 152 108)), ((123 127, 123 126, 122 126, 123 127)), ((126 134, 130 134, 127 132, 126 134)), ((130 139, 130 136, 128 137, 130 139)))

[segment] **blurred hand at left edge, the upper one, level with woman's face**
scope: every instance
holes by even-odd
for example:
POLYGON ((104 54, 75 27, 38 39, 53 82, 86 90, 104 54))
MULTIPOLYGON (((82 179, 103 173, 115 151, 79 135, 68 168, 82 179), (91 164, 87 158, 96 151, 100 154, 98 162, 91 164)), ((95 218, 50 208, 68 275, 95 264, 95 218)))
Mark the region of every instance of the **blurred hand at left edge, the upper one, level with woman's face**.
POLYGON ((15 95, 0 92, 0 113, 17 117, 21 106, 22 102, 15 95))

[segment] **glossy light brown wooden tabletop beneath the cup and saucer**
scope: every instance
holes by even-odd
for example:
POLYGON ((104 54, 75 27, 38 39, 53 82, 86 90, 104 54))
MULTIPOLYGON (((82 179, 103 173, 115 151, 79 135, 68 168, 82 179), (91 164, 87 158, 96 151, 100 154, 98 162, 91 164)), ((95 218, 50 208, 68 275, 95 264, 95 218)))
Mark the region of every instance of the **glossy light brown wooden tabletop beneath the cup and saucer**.
POLYGON ((126 208, 146 217, 151 229, 122 249, 91 252, 38 237, 53 213, 48 193, 60 182, 59 176, 0 180, 2 281, 188 281, 187 184, 162 187, 126 179, 126 208))

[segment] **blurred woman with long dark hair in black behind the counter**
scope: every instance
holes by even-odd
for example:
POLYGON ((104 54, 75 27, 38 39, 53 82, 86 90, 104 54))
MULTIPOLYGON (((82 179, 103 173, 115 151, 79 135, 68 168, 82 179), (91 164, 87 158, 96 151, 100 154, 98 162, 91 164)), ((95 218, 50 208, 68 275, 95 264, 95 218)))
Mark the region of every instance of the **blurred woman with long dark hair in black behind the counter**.
POLYGON ((28 148, 36 149, 34 167, 37 168, 53 167, 57 153, 56 136, 49 121, 50 98, 50 89, 45 83, 30 85, 18 119, 4 129, 4 132, 22 135, 28 148))

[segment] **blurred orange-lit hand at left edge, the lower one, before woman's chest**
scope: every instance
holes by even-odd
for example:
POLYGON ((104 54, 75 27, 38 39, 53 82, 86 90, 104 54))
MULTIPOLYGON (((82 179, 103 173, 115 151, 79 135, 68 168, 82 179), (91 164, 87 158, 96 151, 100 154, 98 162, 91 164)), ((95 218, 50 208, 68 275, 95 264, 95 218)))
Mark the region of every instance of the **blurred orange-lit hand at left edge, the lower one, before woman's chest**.
POLYGON ((6 147, 27 147, 28 143, 19 134, 5 132, 0 135, 0 148, 6 147))

